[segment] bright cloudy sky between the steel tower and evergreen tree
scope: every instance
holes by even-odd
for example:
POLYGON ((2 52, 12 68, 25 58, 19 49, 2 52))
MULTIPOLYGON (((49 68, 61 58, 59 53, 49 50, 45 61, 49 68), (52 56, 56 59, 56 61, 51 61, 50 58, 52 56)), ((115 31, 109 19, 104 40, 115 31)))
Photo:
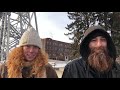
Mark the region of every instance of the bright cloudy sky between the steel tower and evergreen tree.
POLYGON ((52 38, 54 40, 71 42, 65 29, 71 23, 67 12, 37 12, 38 32, 41 38, 52 38))

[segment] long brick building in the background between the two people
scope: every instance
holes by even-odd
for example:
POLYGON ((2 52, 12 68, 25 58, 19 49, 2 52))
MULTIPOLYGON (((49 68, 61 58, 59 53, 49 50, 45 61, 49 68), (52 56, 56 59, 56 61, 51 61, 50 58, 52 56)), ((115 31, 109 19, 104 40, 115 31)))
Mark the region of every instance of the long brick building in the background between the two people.
POLYGON ((41 40, 42 47, 48 53, 49 59, 61 61, 70 60, 70 43, 53 40, 51 38, 44 38, 41 40))

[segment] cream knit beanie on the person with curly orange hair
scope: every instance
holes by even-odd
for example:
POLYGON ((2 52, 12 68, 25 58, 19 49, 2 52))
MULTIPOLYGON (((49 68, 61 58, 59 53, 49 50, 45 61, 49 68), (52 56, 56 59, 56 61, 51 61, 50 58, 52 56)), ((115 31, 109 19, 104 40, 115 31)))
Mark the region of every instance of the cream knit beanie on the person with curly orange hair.
POLYGON ((42 43, 39 34, 33 27, 29 27, 28 30, 26 30, 23 33, 18 46, 24 45, 34 45, 39 48, 42 48, 42 43))

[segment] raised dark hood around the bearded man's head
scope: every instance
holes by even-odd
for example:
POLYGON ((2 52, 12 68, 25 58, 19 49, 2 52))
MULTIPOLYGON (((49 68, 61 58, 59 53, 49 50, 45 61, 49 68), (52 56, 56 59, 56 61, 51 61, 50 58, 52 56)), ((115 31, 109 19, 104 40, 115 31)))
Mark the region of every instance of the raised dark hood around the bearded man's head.
POLYGON ((101 26, 92 26, 86 30, 80 44, 81 56, 87 60, 90 53, 90 49, 88 47, 90 40, 98 35, 102 35, 106 38, 108 53, 113 58, 113 60, 116 60, 116 48, 112 41, 112 38, 109 33, 107 33, 105 29, 101 26))

